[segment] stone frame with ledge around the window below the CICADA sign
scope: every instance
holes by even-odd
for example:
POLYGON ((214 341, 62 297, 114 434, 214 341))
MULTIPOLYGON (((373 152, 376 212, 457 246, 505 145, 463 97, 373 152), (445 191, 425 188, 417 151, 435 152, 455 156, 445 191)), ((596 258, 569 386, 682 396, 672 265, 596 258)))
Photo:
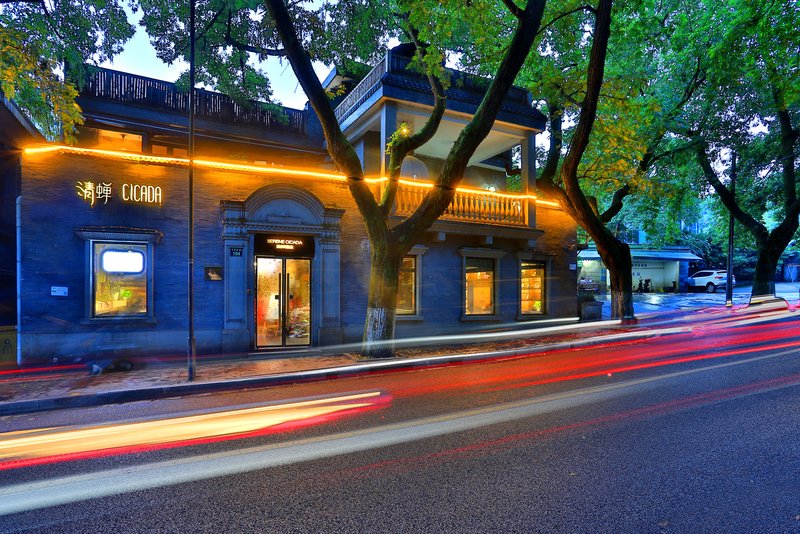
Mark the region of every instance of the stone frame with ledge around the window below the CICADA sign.
POLYGON ((154 295, 154 251, 155 244, 161 239, 158 230, 148 229, 104 229, 79 228, 78 237, 84 240, 85 254, 85 290, 84 317, 82 323, 118 323, 118 322, 155 322, 154 295), (117 244, 121 247, 137 245, 145 247, 144 273, 146 276, 146 309, 145 314, 102 316, 95 314, 95 244, 117 244))

